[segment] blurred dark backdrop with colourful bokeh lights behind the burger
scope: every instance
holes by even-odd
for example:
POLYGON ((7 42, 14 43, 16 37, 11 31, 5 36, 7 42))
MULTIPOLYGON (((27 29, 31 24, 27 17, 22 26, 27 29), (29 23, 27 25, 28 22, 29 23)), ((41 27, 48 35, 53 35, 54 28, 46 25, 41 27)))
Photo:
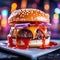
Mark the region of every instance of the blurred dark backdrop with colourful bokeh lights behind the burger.
POLYGON ((16 9, 36 8, 50 15, 51 39, 60 39, 60 0, 0 0, 0 40, 7 39, 9 15, 16 9))

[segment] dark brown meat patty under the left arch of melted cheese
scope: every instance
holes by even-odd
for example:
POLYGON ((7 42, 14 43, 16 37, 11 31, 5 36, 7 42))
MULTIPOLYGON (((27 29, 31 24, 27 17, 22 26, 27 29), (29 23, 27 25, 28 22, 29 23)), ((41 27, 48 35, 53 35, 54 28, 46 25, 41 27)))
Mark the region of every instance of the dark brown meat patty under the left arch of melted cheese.
POLYGON ((27 29, 22 29, 18 32, 18 38, 33 38, 32 32, 27 29))

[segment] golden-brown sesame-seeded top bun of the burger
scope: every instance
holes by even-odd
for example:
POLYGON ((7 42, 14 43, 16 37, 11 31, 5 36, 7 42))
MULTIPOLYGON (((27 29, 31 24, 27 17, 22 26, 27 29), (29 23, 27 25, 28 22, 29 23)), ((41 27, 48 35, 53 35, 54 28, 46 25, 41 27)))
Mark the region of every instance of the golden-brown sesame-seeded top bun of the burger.
POLYGON ((8 23, 14 25, 21 22, 49 22, 49 15, 38 9, 19 9, 11 13, 8 23))

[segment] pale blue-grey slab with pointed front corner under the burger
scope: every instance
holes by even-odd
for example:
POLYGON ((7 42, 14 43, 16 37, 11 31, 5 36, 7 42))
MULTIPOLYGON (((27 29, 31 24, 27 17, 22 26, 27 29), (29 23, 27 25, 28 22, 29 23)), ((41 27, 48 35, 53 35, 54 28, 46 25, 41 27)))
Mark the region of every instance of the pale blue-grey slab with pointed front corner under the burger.
POLYGON ((10 48, 7 45, 2 44, 2 42, 4 41, 0 41, 0 48, 3 48, 7 51, 15 52, 17 54, 24 55, 30 58, 36 58, 38 56, 42 56, 44 54, 48 54, 50 52, 60 49, 60 40, 51 40, 51 41, 57 42, 58 45, 53 46, 50 49, 29 48, 26 50, 22 50, 22 49, 10 48))

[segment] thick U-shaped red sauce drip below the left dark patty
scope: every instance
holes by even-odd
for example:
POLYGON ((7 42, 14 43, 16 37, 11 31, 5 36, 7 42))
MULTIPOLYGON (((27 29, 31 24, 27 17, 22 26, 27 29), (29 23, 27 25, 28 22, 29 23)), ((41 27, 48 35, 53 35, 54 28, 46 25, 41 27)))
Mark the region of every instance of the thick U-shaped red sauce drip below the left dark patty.
POLYGON ((16 48, 19 48, 19 49, 27 49, 29 48, 29 41, 30 39, 29 38, 25 38, 25 39, 22 39, 22 42, 24 43, 23 45, 21 45, 21 40, 20 39, 17 39, 16 40, 16 48))

